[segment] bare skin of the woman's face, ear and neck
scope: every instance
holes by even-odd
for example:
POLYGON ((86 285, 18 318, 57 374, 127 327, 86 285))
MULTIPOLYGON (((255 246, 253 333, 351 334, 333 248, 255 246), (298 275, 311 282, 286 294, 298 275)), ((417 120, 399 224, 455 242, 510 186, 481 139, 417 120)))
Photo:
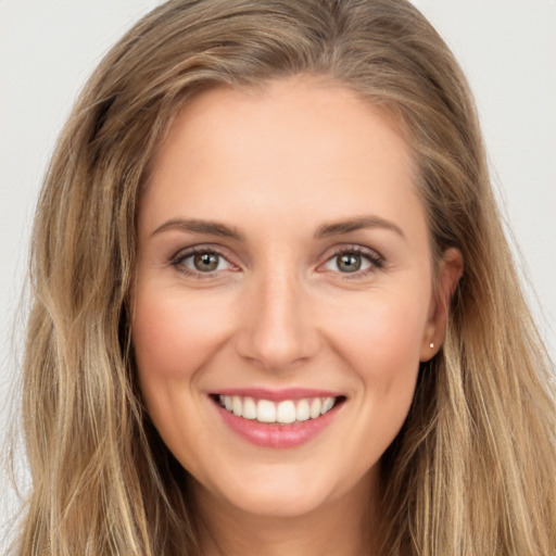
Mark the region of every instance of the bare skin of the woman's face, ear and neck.
POLYGON ((403 136, 351 91, 296 77, 203 92, 153 162, 138 219, 134 344, 152 420, 195 479, 205 552, 368 551, 380 456, 407 415, 419 362, 442 342, 462 273, 450 250, 433 290, 403 136), (317 235, 364 216, 368 226, 317 235), (241 238, 177 219, 217 222, 241 238), (215 271, 185 257, 195 245, 222 254, 215 271), (338 254, 354 248, 362 270, 342 271, 338 254), (326 389, 345 402, 311 441, 261 447, 230 431, 208 396, 248 387, 326 389))

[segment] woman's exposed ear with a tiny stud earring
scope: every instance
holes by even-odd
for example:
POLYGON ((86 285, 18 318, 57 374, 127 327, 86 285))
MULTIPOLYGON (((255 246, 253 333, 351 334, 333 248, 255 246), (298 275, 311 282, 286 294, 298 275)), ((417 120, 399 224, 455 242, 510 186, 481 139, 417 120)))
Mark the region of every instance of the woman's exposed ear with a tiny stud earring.
POLYGON ((431 359, 440 350, 446 330, 450 300, 464 273, 464 257, 456 248, 444 251, 440 262, 438 289, 432 294, 429 319, 425 327, 419 361, 431 359), (431 348, 432 344, 432 348, 431 348))

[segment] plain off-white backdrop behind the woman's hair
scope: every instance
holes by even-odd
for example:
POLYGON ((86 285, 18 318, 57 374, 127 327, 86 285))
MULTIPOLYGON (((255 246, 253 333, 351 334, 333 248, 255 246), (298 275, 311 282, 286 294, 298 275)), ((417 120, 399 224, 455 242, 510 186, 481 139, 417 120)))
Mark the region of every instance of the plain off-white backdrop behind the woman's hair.
MULTIPOLYGON (((0 441, 15 412, 25 320, 25 312, 16 309, 49 155, 77 92, 103 53, 160 3, 0 0, 0 441)), ((451 46, 476 93, 508 232, 554 357, 556 0, 414 3, 451 46)), ((17 462, 25 479, 24 460, 17 462)), ((0 539, 2 528, 11 530, 9 517, 16 505, 0 476, 0 539)))

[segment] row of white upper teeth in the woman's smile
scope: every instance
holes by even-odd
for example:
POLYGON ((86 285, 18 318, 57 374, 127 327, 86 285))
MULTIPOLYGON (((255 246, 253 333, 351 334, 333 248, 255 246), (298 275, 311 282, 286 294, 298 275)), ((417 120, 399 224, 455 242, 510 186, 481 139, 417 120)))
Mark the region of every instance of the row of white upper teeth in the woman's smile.
POLYGON ((295 421, 316 419, 328 413, 336 403, 334 397, 308 397, 303 400, 285 400, 279 403, 269 400, 254 400, 239 395, 218 396, 220 405, 237 417, 256 419, 260 422, 278 422, 289 425, 295 421))

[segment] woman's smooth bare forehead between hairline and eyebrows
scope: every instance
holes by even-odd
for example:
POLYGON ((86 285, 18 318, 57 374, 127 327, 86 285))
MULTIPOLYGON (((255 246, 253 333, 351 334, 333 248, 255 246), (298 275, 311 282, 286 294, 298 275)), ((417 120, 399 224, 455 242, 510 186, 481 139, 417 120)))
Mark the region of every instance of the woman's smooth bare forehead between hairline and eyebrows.
POLYGON ((350 89, 295 77, 190 100, 153 160, 140 219, 151 228, 170 213, 225 222, 249 208, 261 223, 317 225, 357 212, 403 220, 421 212, 414 184, 393 117, 350 89))

